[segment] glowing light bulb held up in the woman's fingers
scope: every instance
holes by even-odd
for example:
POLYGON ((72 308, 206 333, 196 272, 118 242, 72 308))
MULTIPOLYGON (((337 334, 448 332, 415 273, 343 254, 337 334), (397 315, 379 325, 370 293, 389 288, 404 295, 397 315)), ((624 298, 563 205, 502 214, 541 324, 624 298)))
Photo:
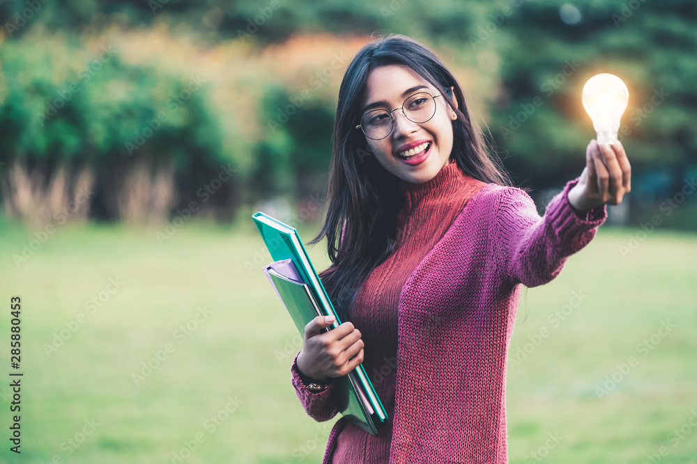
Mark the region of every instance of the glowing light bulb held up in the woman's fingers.
POLYGON ((629 102, 629 90, 622 79, 614 74, 596 74, 583 86, 582 99, 598 143, 616 143, 620 119, 629 102))

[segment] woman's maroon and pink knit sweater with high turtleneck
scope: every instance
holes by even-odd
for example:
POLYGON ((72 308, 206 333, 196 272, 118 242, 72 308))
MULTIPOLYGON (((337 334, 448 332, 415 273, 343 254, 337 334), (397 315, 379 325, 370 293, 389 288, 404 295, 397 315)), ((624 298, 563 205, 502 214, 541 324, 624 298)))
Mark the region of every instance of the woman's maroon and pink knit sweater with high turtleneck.
MULTIPOLYGON (((370 435, 342 417, 323 463, 507 463, 505 367, 521 285, 555 278, 606 218, 606 207, 571 207, 576 182, 540 218, 522 190, 456 163, 424 184, 399 181, 397 246, 362 285, 352 321, 390 419, 370 435)), ((309 392, 296 360, 302 406, 331 419, 333 383, 309 392)))

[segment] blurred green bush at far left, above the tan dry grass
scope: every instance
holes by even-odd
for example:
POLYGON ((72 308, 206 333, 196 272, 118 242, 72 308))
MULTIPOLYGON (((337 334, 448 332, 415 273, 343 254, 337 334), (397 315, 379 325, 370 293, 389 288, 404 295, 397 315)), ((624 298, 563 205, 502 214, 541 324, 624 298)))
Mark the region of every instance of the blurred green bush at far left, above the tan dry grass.
POLYGON ((70 35, 10 41, 0 49, 0 122, 8 154, 175 159, 220 156, 220 134, 195 77, 123 62, 105 45, 91 54, 70 35), (76 63, 86 63, 78 66, 76 63))

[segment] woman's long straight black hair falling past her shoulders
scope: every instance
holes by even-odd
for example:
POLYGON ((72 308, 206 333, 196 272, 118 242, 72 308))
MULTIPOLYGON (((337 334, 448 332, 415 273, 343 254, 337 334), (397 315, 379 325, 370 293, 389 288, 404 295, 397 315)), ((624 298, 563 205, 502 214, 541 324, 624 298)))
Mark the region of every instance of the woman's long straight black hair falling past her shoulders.
POLYGON ((388 35, 362 47, 348 65, 339 88, 327 216, 317 237, 307 243, 327 237, 332 265, 319 277, 342 322, 351 320, 351 307, 362 283, 395 247, 395 220, 404 201, 397 177, 378 163, 362 131, 355 129, 368 74, 384 65, 411 67, 442 95, 450 97, 445 101, 457 114, 452 122, 450 157, 460 168, 482 182, 512 185, 498 156, 489 152, 457 80, 431 50, 405 35, 388 35), (457 108, 452 103, 453 93, 457 108))

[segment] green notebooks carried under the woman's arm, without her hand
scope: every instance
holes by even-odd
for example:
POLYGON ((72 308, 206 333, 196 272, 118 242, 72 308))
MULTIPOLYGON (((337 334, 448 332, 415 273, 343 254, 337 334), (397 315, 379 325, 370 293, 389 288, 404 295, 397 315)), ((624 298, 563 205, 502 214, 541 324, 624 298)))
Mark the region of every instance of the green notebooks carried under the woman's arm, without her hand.
MULTIPOLYGON (((261 211, 252 218, 275 260, 264 266, 263 271, 300 335, 305 335, 305 326, 318 315, 334 316, 330 329, 337 328, 341 321, 307 256, 298 231, 261 211)), ((339 413, 368 433, 377 433, 374 419, 384 422, 388 418, 362 365, 335 380, 334 394, 339 413)))

